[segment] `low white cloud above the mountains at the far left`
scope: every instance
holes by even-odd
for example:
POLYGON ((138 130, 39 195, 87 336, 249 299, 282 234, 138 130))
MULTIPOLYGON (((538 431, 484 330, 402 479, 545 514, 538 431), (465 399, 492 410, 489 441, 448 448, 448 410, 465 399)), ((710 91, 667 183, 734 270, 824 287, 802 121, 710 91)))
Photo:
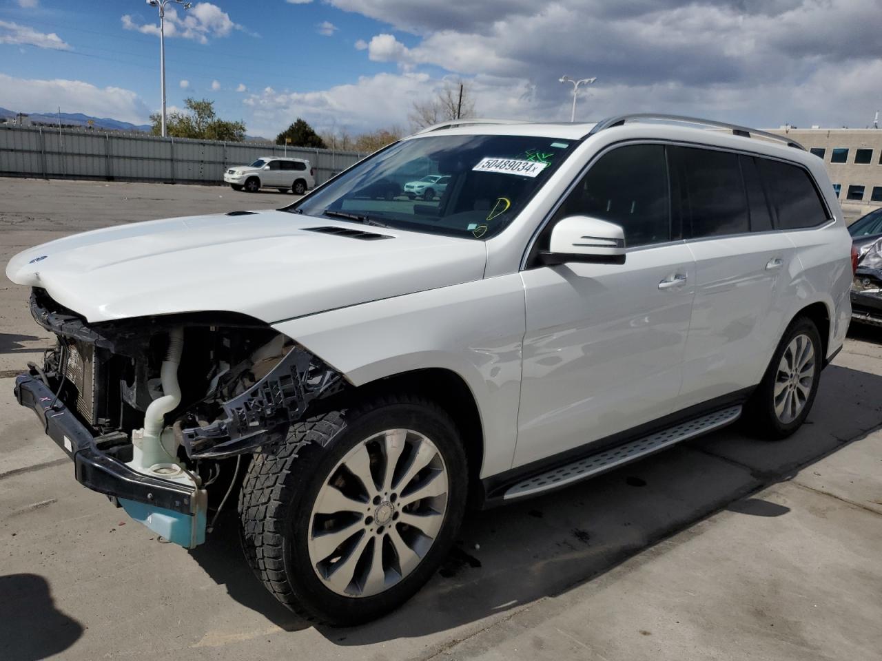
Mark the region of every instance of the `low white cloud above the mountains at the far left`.
POLYGON ((0 73, 0 106, 20 112, 66 112, 146 123, 150 110, 137 93, 120 87, 96 87, 81 80, 14 78, 0 73))

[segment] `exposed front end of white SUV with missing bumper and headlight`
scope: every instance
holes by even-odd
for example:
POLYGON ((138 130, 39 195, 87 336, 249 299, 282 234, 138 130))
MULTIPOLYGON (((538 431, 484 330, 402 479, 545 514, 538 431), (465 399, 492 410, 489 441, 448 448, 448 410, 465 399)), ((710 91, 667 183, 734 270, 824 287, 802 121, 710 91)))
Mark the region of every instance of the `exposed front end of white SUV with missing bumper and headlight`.
POLYGON ((90 325, 38 288, 31 311, 57 342, 16 379, 19 404, 71 456, 79 482, 188 548, 205 540, 206 487, 222 461, 283 442, 292 422, 347 385, 247 316, 90 325))

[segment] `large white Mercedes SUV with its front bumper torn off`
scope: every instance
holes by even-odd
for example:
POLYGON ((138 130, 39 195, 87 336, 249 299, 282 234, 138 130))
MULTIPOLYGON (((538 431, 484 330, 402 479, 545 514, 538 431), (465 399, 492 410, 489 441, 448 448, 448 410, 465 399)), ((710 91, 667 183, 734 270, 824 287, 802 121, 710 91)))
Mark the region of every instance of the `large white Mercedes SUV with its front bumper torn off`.
POLYGON ((202 543, 235 490, 266 587, 352 624, 430 578, 467 501, 739 418, 795 432, 848 327, 850 247, 823 164, 781 137, 445 124, 284 210, 13 257, 58 337, 15 389, 80 482, 171 541, 202 543), (441 200, 357 195, 425 160, 441 200))

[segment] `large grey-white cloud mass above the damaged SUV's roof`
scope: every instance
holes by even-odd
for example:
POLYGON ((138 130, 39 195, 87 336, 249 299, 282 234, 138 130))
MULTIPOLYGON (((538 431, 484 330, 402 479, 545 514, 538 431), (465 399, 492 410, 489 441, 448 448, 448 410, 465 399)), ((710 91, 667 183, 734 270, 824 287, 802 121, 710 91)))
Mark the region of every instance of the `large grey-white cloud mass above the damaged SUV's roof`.
MULTIPOLYGON (((582 117, 663 108, 765 126, 863 125, 878 107, 873 85, 849 87, 855 103, 844 104, 818 87, 818 72, 835 85, 873 79, 866 72, 882 66, 882 31, 870 19, 879 0, 327 2, 415 35, 407 44, 389 31, 357 41, 371 61, 507 81, 529 90, 530 118, 569 117, 561 74, 598 78, 579 102, 582 117)), ((494 87, 492 100, 478 96, 482 114, 488 101, 520 107, 506 85, 494 87)))

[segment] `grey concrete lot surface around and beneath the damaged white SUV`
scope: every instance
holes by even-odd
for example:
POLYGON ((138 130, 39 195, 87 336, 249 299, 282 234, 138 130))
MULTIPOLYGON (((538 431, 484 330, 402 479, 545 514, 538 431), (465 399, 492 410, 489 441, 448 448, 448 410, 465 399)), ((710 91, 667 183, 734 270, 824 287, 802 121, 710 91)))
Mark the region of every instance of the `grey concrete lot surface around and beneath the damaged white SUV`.
MULTIPOLYGON (((0 179, 0 262, 91 227, 290 195, 0 179)), ((882 331, 856 328, 808 423, 726 429, 569 489, 467 516, 397 613, 312 626, 244 565, 228 516, 188 552, 78 486, 16 405, 48 338, 0 284, 0 659, 878 659, 882 331)))

